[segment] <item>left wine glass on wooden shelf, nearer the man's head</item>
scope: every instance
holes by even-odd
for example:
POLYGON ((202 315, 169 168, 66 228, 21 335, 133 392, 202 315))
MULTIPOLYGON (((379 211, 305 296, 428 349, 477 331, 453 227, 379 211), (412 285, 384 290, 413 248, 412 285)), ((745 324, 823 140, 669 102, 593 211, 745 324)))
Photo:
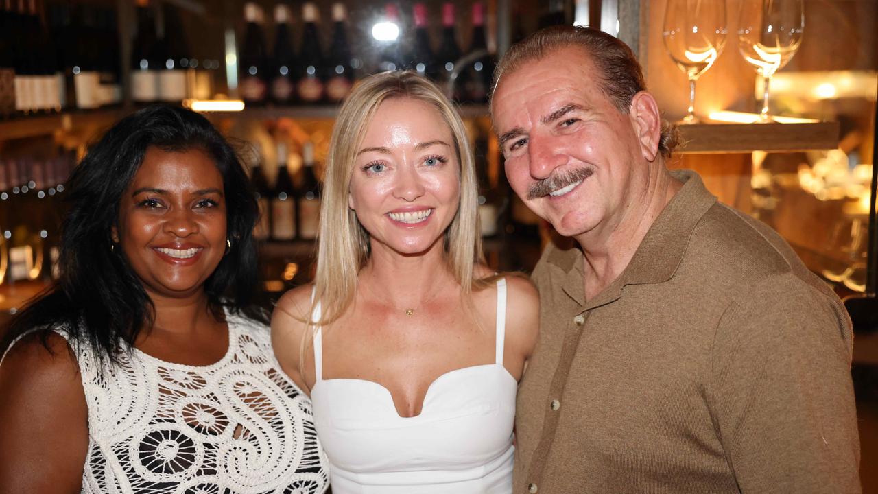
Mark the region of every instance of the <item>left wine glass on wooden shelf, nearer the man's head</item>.
POLYGON ((695 81, 725 46, 724 0, 668 0, 662 38, 673 62, 689 78, 689 108, 680 123, 697 123, 695 81))

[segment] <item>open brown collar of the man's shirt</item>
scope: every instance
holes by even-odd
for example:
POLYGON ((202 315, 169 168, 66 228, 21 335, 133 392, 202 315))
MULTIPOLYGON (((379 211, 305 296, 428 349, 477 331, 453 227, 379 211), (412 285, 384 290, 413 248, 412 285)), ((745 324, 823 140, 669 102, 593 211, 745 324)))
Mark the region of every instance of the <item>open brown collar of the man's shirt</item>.
MULTIPOLYGON (((683 182, 682 188, 652 223, 622 274, 594 300, 588 301, 587 309, 615 301, 626 285, 662 283, 677 271, 695 225, 716 204, 716 197, 694 171, 675 170, 671 176, 683 182)), ((565 272, 562 284, 565 293, 579 305, 586 305, 584 257, 579 246, 568 249, 552 246, 551 249, 546 262, 565 272)))

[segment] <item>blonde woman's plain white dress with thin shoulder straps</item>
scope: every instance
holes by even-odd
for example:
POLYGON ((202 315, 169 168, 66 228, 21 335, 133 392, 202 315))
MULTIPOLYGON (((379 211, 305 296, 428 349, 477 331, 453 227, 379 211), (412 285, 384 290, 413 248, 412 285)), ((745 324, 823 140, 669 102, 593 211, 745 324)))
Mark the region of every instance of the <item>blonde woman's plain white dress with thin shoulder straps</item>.
POLYGON ((499 280, 494 362, 436 378, 421 415, 411 418, 399 417, 377 382, 323 379, 318 329, 311 399, 333 494, 512 492, 518 383, 503 367, 505 328, 506 280, 499 280))

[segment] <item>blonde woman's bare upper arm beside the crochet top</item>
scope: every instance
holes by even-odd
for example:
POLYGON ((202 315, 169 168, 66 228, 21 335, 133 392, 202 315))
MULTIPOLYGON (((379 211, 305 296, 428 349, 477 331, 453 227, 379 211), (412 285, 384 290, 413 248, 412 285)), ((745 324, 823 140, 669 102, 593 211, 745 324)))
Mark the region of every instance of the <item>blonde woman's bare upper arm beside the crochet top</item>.
POLYGON ((310 394, 311 387, 302 375, 300 358, 308 330, 306 321, 311 308, 311 285, 285 293, 271 314, 271 346, 280 367, 300 389, 310 394))

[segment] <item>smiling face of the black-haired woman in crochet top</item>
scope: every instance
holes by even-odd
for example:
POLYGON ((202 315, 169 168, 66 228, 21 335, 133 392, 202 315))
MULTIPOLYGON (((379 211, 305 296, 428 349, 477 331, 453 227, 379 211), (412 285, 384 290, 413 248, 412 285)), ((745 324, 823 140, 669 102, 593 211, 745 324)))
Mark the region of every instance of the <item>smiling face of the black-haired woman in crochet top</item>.
POLYGON ((226 249, 226 200, 216 163, 200 149, 147 149, 112 230, 150 296, 197 294, 226 249))

